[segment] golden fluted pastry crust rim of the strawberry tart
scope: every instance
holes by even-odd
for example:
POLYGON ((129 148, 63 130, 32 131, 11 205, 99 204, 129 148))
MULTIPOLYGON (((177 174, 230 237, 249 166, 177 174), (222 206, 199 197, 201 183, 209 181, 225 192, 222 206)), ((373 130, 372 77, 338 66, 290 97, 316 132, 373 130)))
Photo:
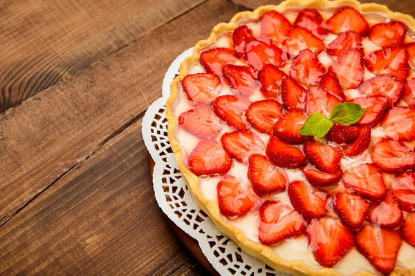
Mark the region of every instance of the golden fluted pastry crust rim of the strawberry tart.
MULTIPOLYGON (((409 28, 415 30, 415 19, 410 17, 407 14, 402 14, 400 12, 392 12, 387 8, 387 6, 379 5, 376 3, 365 3, 362 4, 356 0, 286 0, 280 3, 278 6, 261 6, 252 12, 239 12, 232 17, 229 23, 219 23, 216 25, 208 39, 201 40, 194 46, 192 57, 187 57, 180 66, 180 72, 178 77, 172 81, 170 86, 170 97, 167 99, 166 103, 166 115, 168 120, 168 137, 172 149, 176 155, 178 167, 181 170, 183 175, 183 179, 185 179, 187 183, 187 187, 190 188, 194 198, 196 199, 197 204, 199 207, 212 219, 214 224, 216 225, 219 230, 230 237, 234 242, 236 242, 242 250, 246 253, 257 257, 264 261, 268 266, 275 268, 275 270, 279 270, 286 273, 291 273, 293 275, 321 275, 321 276, 334 276, 340 275, 338 272, 333 270, 333 268, 322 268, 322 269, 313 269, 309 268, 300 261, 293 261, 288 262, 280 259, 273 253, 272 248, 270 246, 265 246, 263 244, 258 244, 256 242, 252 242, 248 239, 241 230, 228 224, 224 221, 221 217, 221 211, 219 210, 219 204, 214 201, 210 201, 206 199, 203 194, 199 191, 199 177, 194 175, 190 170, 185 166, 183 163, 183 152, 180 144, 175 139, 175 130, 178 124, 178 120, 174 117, 173 107, 174 102, 176 101, 176 97, 178 95, 178 83, 182 81, 182 79, 188 75, 188 70, 191 68, 192 65, 199 62, 199 55, 201 49, 203 47, 208 46, 209 44, 213 43, 216 40, 216 37, 223 33, 230 30, 234 30, 237 27, 237 23, 239 20, 243 18, 248 19, 259 19, 261 14, 264 12, 268 12, 270 10, 276 10, 277 12, 284 12, 287 8, 335 8, 339 6, 351 6, 358 10, 358 12, 370 12, 370 13, 380 13, 385 14, 392 20, 401 21, 405 23, 409 28)), ((368 271, 360 271, 358 273, 354 273, 353 276, 369 276, 374 275, 369 273, 368 271)), ((394 271, 390 275, 415 275, 415 269, 405 269, 395 267, 394 271)))

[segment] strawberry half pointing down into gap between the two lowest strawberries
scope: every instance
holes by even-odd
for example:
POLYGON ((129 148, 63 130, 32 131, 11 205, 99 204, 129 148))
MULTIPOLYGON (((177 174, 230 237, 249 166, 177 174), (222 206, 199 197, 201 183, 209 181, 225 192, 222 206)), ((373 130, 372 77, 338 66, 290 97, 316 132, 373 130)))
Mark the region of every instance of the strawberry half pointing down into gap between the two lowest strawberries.
POLYGON ((369 204, 358 195, 338 193, 333 199, 333 208, 345 226, 357 229, 365 221, 369 204))

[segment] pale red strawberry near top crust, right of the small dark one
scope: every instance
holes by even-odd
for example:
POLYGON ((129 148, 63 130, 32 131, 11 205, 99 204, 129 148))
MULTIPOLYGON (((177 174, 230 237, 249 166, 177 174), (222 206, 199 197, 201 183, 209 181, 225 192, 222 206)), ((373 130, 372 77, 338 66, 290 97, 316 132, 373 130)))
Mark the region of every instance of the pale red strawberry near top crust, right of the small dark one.
POLYGON ((271 39, 277 45, 286 39, 291 29, 290 21, 275 10, 262 14, 259 20, 261 21, 261 36, 271 39))

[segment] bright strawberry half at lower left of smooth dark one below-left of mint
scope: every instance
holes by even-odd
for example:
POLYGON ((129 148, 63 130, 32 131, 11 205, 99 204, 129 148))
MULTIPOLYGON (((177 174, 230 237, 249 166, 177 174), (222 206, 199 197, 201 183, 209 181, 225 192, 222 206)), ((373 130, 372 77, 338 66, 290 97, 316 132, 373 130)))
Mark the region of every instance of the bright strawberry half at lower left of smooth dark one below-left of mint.
POLYGON ((274 166, 268 157, 259 154, 249 157, 248 179, 257 195, 276 193, 288 185, 286 172, 274 166))

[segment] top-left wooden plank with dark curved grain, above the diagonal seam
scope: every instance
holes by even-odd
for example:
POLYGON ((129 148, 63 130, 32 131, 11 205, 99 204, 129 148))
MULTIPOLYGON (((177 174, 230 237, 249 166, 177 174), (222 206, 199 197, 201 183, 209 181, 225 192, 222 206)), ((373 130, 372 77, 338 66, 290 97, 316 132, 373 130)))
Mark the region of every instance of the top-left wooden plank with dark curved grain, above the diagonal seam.
POLYGON ((0 112, 203 1, 0 1, 0 112))

